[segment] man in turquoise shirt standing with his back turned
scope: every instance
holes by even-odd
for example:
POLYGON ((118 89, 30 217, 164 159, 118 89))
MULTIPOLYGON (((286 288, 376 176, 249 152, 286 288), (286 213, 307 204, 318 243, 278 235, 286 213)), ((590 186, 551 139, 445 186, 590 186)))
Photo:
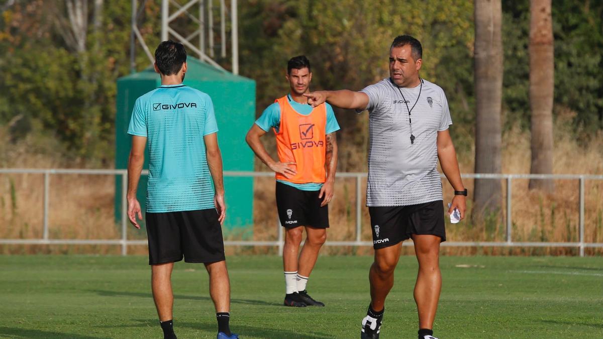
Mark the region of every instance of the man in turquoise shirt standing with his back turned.
POLYGON ((142 218, 136 190, 148 145, 147 235, 153 299, 163 337, 174 339, 171 274, 175 261, 203 262, 210 276, 218 339, 230 332, 230 282, 221 224, 226 217, 222 156, 212 100, 182 84, 186 50, 171 40, 155 51, 161 86, 136 100, 128 134, 128 218, 142 218), (215 190, 212 188, 215 186, 215 190))

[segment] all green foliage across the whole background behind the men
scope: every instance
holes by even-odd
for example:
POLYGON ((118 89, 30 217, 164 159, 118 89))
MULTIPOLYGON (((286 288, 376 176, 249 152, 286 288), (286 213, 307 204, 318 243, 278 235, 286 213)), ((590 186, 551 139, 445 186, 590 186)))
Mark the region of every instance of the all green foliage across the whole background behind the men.
MULTIPOLYGON (((554 1, 555 114, 573 112, 579 139, 603 128, 603 2, 554 1)), ((86 49, 69 46, 57 22, 64 2, 14 2, 0 16, 0 124, 10 140, 53 138, 80 159, 113 158, 116 79, 130 72, 130 2, 104 1, 86 49), (18 117, 18 118, 16 118, 18 117)), ((529 1, 503 1, 504 130, 529 128, 529 1)), ((147 1, 140 31, 159 43, 160 2, 147 1)), ((175 25, 190 27, 186 17, 175 25)), ((286 61, 312 62, 312 89, 358 90, 388 76, 391 40, 423 43, 421 76, 445 90, 461 156, 470 153, 475 121, 473 4, 434 0, 241 0, 241 74, 257 81, 257 113, 288 90, 286 61)), ((149 65, 137 46, 136 69, 149 65)), ((192 54, 191 54, 192 55, 192 54)), ((229 67, 229 60, 221 60, 229 67)), ((367 117, 336 110, 342 126, 340 170, 366 170, 367 117)))

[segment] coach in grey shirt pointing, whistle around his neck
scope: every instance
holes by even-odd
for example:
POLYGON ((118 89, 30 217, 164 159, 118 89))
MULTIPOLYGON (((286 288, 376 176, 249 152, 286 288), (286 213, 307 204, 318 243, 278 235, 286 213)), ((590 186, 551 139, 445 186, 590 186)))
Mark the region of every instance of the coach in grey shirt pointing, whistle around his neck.
POLYGON ((385 297, 394 284, 402 241, 412 238, 419 264, 414 299, 418 338, 431 339, 440 298, 440 242, 446 240, 444 207, 437 162, 455 189, 448 214, 465 216, 465 197, 448 130, 452 124, 446 95, 440 86, 418 75, 421 43, 399 36, 390 48, 390 77, 351 90, 306 94, 308 103, 368 110, 367 206, 373 228, 374 262, 369 280, 371 303, 362 320, 361 338, 379 338, 385 297))

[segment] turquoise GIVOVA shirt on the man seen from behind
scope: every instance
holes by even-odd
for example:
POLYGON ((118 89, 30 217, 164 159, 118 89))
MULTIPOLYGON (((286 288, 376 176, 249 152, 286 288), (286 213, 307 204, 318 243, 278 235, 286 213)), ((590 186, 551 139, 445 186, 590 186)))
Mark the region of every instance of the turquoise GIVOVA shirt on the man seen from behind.
POLYGON ((147 137, 147 212, 215 208, 204 136, 216 133, 212 99, 183 84, 136 100, 128 134, 147 137))

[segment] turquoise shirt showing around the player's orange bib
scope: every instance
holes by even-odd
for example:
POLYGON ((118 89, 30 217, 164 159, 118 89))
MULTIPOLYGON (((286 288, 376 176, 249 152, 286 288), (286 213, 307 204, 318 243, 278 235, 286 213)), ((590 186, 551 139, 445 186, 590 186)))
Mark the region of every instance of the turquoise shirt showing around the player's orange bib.
MULTIPOLYGON (((308 104, 300 104, 295 100, 292 100, 291 94, 287 95, 289 99, 289 103, 291 107, 295 110, 295 112, 300 113, 301 115, 309 115, 312 113, 312 106, 308 104)), ((324 103, 327 109, 327 125, 325 134, 333 133, 334 131, 338 131, 339 124, 337 119, 335 118, 335 112, 333 112, 333 107, 328 103, 324 103)), ((279 130, 280 127, 280 106, 279 103, 273 103, 268 106, 262 115, 257 118, 256 125, 259 128, 262 128, 264 131, 269 131, 270 128, 276 128, 279 130)), ((294 188, 300 189, 301 191, 320 191, 323 187, 323 183, 292 183, 286 180, 276 180, 277 182, 284 183, 285 185, 293 186, 294 188)))

